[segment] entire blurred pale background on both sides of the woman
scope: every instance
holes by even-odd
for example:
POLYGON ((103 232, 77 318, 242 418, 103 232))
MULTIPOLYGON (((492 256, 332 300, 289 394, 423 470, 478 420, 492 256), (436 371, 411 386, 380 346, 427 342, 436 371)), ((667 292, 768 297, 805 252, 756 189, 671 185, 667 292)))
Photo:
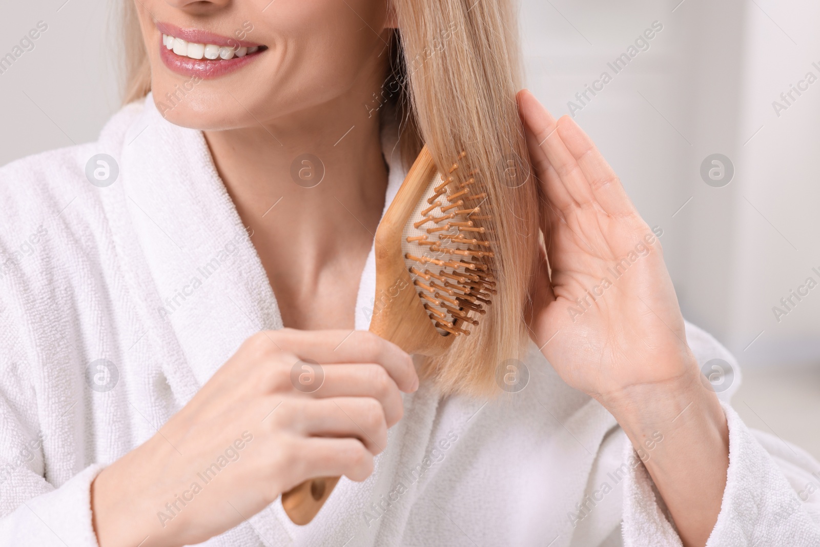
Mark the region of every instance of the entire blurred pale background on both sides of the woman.
MULTIPOLYGON (((663 230, 685 317, 740 362, 734 407, 820 458, 820 2, 521 2, 526 85, 663 230)), ((113 5, 6 7, 0 57, 39 37, 0 61, 0 164, 96 139, 116 112, 113 5)))

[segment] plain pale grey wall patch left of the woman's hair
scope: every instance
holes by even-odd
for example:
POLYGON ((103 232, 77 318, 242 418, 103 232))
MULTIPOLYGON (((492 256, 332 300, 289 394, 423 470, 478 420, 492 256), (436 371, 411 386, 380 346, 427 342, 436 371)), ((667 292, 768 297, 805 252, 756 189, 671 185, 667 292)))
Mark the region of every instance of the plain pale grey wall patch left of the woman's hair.
POLYGON ((48 30, 0 74, 0 165, 31 153, 97 138, 117 91, 111 2, 5 2, 0 56, 12 52, 39 21, 48 30), (59 10, 59 11, 58 11, 59 10))

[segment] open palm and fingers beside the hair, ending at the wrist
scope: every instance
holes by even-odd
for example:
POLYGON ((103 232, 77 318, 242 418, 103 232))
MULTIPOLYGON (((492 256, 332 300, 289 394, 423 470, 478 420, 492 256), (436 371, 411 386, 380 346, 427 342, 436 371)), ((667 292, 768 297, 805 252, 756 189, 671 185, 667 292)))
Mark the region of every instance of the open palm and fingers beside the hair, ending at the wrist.
POLYGON ((533 340, 568 384, 594 397, 683 375, 690 351, 657 236, 572 120, 556 124, 526 92, 519 100, 546 243, 533 340))

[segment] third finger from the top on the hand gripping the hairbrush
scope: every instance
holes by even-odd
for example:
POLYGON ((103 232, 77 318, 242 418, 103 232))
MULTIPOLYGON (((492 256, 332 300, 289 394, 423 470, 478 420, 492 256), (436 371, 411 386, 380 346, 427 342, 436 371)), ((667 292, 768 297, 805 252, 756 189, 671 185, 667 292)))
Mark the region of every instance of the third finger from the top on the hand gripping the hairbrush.
POLYGON ((353 437, 373 455, 387 446, 384 409, 370 397, 285 399, 268 420, 271 427, 298 435, 353 437))

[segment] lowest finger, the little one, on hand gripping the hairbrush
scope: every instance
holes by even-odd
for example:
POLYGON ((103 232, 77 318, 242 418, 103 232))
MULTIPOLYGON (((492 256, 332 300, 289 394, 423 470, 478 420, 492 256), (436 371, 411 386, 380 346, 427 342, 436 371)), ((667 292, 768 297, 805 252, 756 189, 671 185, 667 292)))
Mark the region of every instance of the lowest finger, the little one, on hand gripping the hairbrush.
POLYGON ((347 476, 361 482, 373 472, 373 454, 357 439, 308 437, 293 441, 298 454, 291 468, 298 477, 293 485, 317 476, 347 476))

